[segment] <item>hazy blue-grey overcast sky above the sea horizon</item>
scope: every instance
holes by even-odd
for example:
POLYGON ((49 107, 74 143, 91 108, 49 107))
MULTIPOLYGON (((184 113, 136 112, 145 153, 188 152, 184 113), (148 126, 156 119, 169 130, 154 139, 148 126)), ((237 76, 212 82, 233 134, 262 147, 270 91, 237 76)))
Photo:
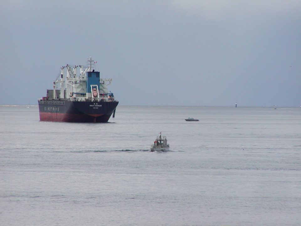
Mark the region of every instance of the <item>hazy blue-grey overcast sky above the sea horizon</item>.
POLYGON ((0 0, 0 40, 0 105, 89 56, 120 105, 301 102, 299 0, 0 0))

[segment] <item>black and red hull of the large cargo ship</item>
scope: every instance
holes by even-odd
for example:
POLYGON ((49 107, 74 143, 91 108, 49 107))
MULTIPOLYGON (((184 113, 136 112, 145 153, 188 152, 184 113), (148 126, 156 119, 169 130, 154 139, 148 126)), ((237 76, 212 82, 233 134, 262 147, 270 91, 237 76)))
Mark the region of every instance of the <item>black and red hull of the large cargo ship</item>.
POLYGON ((57 122, 108 122, 119 103, 71 100, 38 100, 38 102, 40 121, 57 122))

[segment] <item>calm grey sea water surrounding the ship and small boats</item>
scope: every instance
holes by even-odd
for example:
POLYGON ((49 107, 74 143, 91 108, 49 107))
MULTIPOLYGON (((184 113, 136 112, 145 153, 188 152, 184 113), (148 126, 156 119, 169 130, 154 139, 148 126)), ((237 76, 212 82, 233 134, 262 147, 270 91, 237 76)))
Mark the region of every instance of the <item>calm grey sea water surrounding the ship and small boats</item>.
POLYGON ((301 225, 301 108, 0 106, 0 172, 0 225, 301 225))

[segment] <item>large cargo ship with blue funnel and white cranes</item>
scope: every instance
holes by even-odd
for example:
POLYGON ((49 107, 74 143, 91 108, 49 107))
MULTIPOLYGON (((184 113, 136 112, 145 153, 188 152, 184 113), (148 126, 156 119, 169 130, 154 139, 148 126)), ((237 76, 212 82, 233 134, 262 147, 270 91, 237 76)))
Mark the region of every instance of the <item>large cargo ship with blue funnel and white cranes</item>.
POLYGON ((40 121, 98 123, 115 117, 119 102, 107 88, 112 78, 100 78, 95 63, 89 57, 87 66, 61 67, 53 89, 38 100, 40 121))

